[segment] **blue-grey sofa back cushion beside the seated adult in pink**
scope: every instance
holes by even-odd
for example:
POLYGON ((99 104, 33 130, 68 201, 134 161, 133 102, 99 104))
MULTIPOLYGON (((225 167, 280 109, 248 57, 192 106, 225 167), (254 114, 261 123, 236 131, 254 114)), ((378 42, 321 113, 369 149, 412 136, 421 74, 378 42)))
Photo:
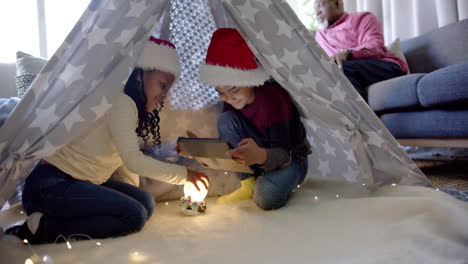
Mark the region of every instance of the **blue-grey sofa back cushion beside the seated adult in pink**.
POLYGON ((401 42, 412 73, 468 61, 468 19, 401 42))

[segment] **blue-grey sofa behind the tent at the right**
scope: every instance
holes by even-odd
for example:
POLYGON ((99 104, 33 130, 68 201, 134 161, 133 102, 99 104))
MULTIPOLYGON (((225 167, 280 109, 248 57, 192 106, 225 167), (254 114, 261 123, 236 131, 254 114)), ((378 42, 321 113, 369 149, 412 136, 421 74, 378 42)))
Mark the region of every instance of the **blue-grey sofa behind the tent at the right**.
POLYGON ((401 42, 410 74, 367 88, 404 146, 468 148, 468 19, 401 42))

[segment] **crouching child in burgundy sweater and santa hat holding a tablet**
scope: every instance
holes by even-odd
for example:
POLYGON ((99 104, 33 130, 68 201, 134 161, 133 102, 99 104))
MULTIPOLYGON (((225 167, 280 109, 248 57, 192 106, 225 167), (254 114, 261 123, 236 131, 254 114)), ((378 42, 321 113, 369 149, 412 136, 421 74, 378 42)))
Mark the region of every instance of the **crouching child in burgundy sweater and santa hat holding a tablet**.
POLYGON ((213 33, 203 83, 215 86, 225 112, 218 120, 222 139, 236 146, 227 154, 255 173, 239 173, 241 187, 219 203, 252 199, 262 209, 286 204, 307 173, 310 144, 298 111, 287 92, 257 63, 240 33, 220 28, 213 33))

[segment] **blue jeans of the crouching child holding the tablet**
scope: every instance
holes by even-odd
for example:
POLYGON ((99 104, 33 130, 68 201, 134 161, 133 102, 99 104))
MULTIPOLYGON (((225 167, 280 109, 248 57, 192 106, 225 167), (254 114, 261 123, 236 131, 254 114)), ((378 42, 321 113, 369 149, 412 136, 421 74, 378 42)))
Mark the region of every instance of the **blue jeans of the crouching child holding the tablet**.
MULTIPOLYGON (((245 118, 234 111, 224 112, 218 119, 218 133, 221 139, 227 140, 232 146, 237 146, 244 138, 253 138, 261 142, 261 135, 245 118)), ((284 168, 262 172, 254 187, 253 200, 264 210, 283 207, 292 190, 304 180, 307 174, 307 156, 293 155, 291 163, 284 168)), ((253 177, 251 174, 238 173, 240 180, 253 177)))

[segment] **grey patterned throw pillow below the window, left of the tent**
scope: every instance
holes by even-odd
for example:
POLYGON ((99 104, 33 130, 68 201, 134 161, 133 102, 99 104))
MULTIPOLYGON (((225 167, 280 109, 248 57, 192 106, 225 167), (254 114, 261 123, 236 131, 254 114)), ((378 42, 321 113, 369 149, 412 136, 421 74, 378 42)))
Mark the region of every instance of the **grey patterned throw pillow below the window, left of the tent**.
POLYGON ((34 57, 22 51, 16 52, 16 88, 18 89, 18 97, 23 97, 42 67, 46 64, 46 59, 34 57))

